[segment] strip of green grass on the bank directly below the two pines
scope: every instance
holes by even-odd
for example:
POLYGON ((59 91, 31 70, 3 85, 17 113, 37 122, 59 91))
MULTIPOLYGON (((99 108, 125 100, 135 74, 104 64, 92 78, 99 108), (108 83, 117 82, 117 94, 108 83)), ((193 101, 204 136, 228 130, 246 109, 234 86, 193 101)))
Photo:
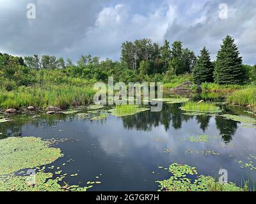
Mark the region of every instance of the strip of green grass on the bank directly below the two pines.
POLYGON ((214 92, 232 92, 237 89, 243 89, 243 85, 220 85, 215 83, 205 82, 201 85, 203 91, 214 91, 214 92))

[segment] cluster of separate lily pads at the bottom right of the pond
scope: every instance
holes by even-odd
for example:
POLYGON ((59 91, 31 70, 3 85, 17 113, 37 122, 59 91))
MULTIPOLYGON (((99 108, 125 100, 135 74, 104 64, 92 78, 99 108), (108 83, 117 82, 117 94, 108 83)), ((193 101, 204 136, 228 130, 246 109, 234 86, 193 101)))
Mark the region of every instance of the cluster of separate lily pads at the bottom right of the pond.
POLYGON ((189 179, 191 175, 197 175, 195 167, 187 164, 173 163, 169 166, 168 171, 172 177, 167 180, 157 180, 160 189, 158 191, 242 191, 236 184, 220 184, 213 177, 199 175, 194 181, 189 179))

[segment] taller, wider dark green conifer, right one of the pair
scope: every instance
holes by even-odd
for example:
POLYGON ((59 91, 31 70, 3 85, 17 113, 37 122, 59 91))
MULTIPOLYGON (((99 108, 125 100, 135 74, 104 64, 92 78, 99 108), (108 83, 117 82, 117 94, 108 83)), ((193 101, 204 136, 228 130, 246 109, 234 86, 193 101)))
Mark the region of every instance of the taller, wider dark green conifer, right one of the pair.
POLYGON ((214 82, 217 84, 243 84, 243 59, 239 57, 237 45, 231 36, 223 40, 214 69, 214 82))

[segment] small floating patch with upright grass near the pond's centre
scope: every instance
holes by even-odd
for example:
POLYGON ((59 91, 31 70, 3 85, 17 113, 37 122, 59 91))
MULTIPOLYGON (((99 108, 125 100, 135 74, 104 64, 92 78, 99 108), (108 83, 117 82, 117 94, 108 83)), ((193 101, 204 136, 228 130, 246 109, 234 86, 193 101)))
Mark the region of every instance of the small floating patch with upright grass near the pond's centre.
POLYGON ((134 115, 136 113, 144 112, 150 110, 150 108, 143 108, 141 106, 136 105, 117 105, 116 108, 110 110, 112 115, 117 117, 134 115))

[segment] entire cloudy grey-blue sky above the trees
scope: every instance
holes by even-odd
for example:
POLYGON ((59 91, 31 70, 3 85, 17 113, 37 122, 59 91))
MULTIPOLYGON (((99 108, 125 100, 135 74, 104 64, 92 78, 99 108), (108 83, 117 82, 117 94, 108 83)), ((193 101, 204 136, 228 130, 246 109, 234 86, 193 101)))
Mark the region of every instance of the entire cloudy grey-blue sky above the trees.
POLYGON ((118 60, 123 41, 180 40, 212 59, 232 35, 244 63, 256 64, 256 0, 0 0, 0 52, 81 54, 118 60), (28 19, 34 3, 36 18, 28 19))

